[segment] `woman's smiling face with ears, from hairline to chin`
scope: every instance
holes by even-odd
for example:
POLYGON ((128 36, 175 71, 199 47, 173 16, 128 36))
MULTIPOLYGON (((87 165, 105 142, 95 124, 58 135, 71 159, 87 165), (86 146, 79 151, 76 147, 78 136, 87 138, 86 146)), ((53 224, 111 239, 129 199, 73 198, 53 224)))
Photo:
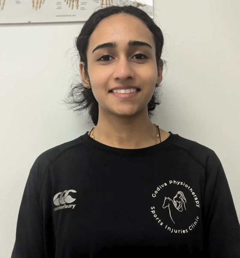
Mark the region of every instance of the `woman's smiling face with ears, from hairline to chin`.
MULTIPOLYGON (((87 60, 99 114, 147 114, 156 82, 162 81, 162 68, 157 69, 152 32, 140 19, 119 14, 102 20, 90 37, 87 60)), ((83 65, 80 73, 86 85, 83 65)))

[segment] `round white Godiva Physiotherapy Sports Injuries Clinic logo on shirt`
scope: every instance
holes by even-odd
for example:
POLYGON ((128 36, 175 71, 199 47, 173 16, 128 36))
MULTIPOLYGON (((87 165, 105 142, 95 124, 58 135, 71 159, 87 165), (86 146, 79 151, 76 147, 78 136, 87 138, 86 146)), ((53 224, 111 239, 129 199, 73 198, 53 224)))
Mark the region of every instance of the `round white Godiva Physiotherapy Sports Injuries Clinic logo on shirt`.
POLYGON ((199 196, 186 182, 169 180, 152 193, 151 213, 156 223, 171 233, 186 234, 199 223, 199 196))

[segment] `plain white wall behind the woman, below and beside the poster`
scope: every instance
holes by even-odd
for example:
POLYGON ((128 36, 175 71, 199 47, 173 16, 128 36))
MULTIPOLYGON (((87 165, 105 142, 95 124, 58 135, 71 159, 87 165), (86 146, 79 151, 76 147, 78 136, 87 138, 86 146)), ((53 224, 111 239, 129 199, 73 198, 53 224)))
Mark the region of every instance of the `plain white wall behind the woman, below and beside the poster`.
MULTIPOLYGON (((154 8, 169 68, 153 122, 217 153, 240 215, 240 2, 155 0, 154 8)), ((82 23, 0 26, 0 257, 11 255, 35 159, 90 128, 62 102, 74 74, 73 38, 81 28, 82 23)))

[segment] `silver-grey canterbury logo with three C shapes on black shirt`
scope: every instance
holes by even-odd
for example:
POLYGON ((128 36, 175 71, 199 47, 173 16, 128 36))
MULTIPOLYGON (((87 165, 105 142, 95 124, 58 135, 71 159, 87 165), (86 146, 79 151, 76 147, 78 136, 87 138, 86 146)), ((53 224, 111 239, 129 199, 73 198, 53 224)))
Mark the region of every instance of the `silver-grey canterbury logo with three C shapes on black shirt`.
POLYGON ((76 206, 76 204, 70 204, 66 205, 66 203, 72 203, 76 199, 74 199, 72 196, 69 195, 69 193, 76 193, 75 190, 65 190, 63 192, 59 192, 54 195, 53 197, 53 203, 58 206, 57 208, 54 208, 54 211, 61 210, 61 209, 66 209, 66 208, 73 208, 76 206), (61 204, 64 204, 60 206, 61 204))

